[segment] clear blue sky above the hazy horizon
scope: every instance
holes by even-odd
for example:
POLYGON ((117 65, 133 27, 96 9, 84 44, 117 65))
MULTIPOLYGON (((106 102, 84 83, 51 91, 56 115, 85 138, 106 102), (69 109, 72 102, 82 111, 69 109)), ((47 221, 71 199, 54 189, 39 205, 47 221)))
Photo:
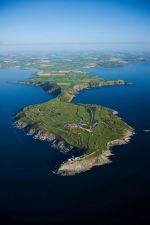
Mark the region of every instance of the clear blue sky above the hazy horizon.
POLYGON ((150 0, 0 0, 0 44, 150 42, 150 0))

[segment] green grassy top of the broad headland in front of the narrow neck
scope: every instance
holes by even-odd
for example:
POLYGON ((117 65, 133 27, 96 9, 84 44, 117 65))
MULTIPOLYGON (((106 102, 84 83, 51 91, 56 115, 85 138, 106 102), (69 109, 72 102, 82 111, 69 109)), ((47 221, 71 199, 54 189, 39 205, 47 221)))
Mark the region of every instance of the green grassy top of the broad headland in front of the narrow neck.
POLYGON ((129 126, 114 115, 112 110, 101 106, 94 106, 94 120, 98 125, 93 132, 83 130, 84 126, 81 126, 82 128, 66 126, 82 123, 89 128, 91 118, 88 110, 92 107, 93 105, 77 105, 55 99, 26 107, 19 113, 19 117, 21 121, 43 132, 53 133, 74 147, 85 149, 88 153, 93 151, 102 153, 106 150, 108 141, 121 138, 129 126))

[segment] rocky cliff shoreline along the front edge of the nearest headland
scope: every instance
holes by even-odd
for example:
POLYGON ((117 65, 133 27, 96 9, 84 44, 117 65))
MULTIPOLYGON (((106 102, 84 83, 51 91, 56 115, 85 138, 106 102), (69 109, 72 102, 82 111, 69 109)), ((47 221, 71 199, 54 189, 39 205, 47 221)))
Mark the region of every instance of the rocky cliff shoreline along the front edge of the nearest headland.
MULTIPOLYGON (((29 127, 29 125, 24 122, 15 121, 14 126, 18 129, 26 129, 26 135, 32 136, 34 139, 38 139, 40 141, 46 141, 53 148, 58 149, 63 153, 73 151, 74 149, 73 146, 65 143, 56 135, 43 132, 38 128, 29 127)), ((93 167, 112 163, 112 161, 110 160, 110 156, 113 155, 113 147, 128 144, 134 134, 135 132, 132 128, 131 130, 127 130, 122 138, 109 141, 107 143, 106 150, 101 154, 95 155, 96 152, 92 152, 89 155, 81 155, 75 158, 69 158, 67 161, 60 164, 55 174, 59 176, 74 176, 76 174, 89 171, 93 167)))

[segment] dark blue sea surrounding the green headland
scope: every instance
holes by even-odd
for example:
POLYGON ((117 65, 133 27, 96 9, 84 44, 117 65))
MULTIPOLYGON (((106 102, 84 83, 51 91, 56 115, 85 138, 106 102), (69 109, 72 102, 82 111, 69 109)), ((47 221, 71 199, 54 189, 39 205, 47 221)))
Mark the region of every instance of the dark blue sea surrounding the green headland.
POLYGON ((113 149, 112 164, 59 177, 50 171, 66 156, 13 127, 17 111, 54 96, 7 82, 34 71, 0 70, 1 224, 146 224, 150 219, 150 133, 143 131, 150 129, 150 63, 90 71, 133 84, 88 89, 73 101, 117 110, 136 134, 128 145, 113 149))

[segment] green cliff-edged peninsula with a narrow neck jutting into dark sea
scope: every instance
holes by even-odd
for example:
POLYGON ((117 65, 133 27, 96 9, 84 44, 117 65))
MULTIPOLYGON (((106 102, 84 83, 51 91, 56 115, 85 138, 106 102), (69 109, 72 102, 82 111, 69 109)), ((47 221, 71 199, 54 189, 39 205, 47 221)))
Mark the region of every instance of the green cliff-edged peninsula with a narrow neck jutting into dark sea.
POLYGON ((25 107, 16 115, 16 127, 26 128, 28 135, 50 142, 61 151, 83 150, 80 157, 60 165, 59 175, 74 175, 109 163, 110 147, 127 143, 133 134, 114 110, 72 102, 83 89, 127 85, 123 80, 105 80, 80 70, 42 70, 21 83, 39 86, 54 93, 55 98, 25 107))

